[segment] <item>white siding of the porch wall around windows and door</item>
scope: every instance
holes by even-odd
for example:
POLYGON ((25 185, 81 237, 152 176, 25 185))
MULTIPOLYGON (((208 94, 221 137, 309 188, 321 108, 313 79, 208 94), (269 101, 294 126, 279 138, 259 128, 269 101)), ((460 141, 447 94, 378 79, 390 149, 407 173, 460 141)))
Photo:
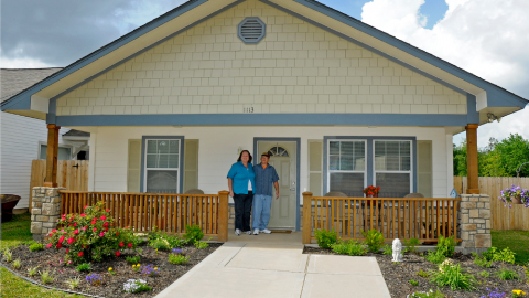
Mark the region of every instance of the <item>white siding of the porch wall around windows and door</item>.
MULTIPOLYGON (((408 136, 418 140, 431 140, 433 149, 433 196, 449 195, 449 173, 446 150, 447 138, 443 127, 99 127, 93 134, 90 152, 95 156, 95 175, 90 174, 94 191, 127 191, 127 146, 129 139, 142 136, 184 136, 199 139, 198 188, 205 193, 217 193, 227 189, 226 174, 236 161, 238 148, 253 152, 253 137, 301 138, 300 187, 307 188, 307 140, 323 139, 324 136, 408 136)), ((450 151, 452 155, 452 151, 450 151)), ((449 156, 450 156, 449 155, 449 156)), ((93 156, 90 156, 93 157, 93 156)), ((450 188, 451 189, 451 188, 450 188)))

